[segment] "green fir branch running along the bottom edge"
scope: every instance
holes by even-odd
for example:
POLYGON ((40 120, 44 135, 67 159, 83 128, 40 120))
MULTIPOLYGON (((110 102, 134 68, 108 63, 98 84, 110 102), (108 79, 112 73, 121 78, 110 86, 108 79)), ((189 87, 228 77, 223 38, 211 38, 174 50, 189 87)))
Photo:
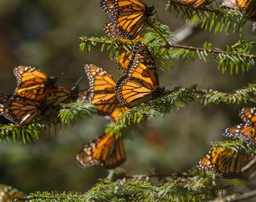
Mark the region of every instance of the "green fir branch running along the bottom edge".
POLYGON ((85 194, 73 192, 36 192, 28 197, 30 202, 154 202, 171 201, 201 202, 217 196, 218 190, 223 187, 211 187, 203 189, 191 189, 184 187, 184 179, 177 178, 165 184, 154 186, 149 182, 125 181, 123 183, 110 180, 100 180, 85 194))

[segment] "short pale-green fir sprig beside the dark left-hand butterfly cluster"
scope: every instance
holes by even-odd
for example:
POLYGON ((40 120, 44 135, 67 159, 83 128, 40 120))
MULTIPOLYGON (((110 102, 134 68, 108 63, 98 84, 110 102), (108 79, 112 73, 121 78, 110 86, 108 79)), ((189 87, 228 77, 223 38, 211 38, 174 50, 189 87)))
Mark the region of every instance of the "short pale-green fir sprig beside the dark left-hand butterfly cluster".
POLYGON ((62 123, 69 124, 75 117, 87 118, 97 112, 95 106, 91 103, 75 102, 70 104, 60 104, 59 118, 62 123))

